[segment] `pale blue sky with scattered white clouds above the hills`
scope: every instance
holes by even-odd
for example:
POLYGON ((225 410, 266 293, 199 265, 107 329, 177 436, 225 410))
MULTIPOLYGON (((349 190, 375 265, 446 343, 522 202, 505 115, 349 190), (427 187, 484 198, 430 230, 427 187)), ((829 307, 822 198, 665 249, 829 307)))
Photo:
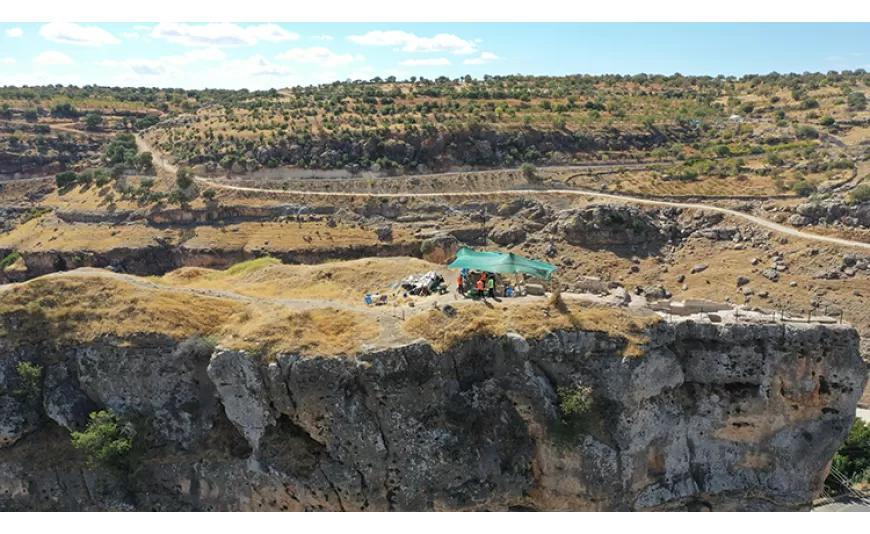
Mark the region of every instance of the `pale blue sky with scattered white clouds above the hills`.
POLYGON ((870 70, 870 24, 0 23, 0 86, 870 70))

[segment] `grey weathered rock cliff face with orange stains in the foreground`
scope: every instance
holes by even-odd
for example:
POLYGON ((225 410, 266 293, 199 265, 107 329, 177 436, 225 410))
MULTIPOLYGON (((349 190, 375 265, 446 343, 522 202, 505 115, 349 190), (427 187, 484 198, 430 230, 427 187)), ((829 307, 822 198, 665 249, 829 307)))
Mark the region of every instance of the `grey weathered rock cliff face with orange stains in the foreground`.
POLYGON ((700 316, 639 357, 592 331, 261 361, 26 326, 0 338, 0 510, 805 510, 867 380, 851 327, 700 316), (132 473, 70 446, 98 408, 136 426, 132 473))

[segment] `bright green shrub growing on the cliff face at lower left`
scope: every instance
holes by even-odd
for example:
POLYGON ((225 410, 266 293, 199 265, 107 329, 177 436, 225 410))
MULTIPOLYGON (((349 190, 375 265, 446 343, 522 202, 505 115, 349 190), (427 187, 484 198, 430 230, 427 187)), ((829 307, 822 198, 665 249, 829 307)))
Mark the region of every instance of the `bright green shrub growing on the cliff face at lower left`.
POLYGON ((136 431, 111 410, 93 412, 84 432, 73 432, 73 446, 83 451, 92 467, 129 472, 136 431))

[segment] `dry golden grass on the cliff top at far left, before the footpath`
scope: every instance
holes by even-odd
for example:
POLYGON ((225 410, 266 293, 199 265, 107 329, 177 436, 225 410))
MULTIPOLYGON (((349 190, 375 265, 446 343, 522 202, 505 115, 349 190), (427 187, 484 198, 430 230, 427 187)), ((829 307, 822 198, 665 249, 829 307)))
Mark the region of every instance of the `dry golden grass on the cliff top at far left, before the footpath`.
POLYGON ((99 276, 32 280, 4 295, 0 318, 13 343, 88 343, 104 335, 215 336, 236 349, 334 355, 380 335, 362 313, 332 308, 291 311, 226 298, 141 287, 99 276), (15 319, 21 327, 9 328, 15 319))

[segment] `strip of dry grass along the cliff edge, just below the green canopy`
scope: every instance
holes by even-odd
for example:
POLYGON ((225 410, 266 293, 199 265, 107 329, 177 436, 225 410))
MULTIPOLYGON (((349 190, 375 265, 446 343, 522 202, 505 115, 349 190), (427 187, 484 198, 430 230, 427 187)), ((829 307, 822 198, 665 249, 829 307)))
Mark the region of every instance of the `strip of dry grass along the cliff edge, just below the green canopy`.
POLYGON ((636 317, 616 308, 575 305, 572 310, 543 302, 494 308, 461 303, 455 308, 453 317, 439 310, 415 315, 406 321, 405 329, 426 338, 439 350, 474 336, 497 337, 508 332, 529 338, 541 338, 558 330, 604 332, 624 341, 624 355, 640 356, 649 341, 646 328, 659 320, 636 317))

